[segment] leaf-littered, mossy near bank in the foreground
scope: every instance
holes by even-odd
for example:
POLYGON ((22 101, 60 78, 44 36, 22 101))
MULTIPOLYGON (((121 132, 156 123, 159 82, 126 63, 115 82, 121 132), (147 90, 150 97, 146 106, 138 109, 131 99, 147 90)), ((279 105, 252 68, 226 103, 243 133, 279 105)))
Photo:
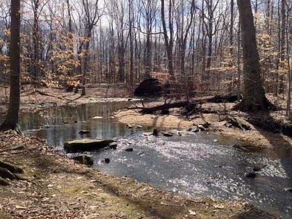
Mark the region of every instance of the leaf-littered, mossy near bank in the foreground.
POLYGON ((0 187, 1 218, 277 218, 247 203, 179 197, 108 176, 55 154, 40 139, 0 134, 1 149, 16 142, 26 150, 0 159, 22 167, 27 180, 0 187))

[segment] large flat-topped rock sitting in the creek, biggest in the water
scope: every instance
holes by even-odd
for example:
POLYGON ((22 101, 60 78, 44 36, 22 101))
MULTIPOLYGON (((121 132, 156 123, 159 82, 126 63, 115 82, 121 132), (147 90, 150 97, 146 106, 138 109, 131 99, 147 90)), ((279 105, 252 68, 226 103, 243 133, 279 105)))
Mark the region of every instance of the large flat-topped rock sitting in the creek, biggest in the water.
POLYGON ((94 138, 72 139, 64 143, 64 148, 70 152, 93 151, 108 147, 110 143, 113 142, 115 141, 109 139, 94 138))

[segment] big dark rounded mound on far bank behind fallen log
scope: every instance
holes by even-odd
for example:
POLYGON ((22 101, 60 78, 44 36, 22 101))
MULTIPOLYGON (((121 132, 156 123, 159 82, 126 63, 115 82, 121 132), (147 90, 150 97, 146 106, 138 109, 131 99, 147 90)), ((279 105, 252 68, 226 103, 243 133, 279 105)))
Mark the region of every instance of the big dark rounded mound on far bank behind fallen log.
POLYGON ((135 89, 137 96, 161 95, 163 86, 158 79, 148 78, 143 80, 135 89))

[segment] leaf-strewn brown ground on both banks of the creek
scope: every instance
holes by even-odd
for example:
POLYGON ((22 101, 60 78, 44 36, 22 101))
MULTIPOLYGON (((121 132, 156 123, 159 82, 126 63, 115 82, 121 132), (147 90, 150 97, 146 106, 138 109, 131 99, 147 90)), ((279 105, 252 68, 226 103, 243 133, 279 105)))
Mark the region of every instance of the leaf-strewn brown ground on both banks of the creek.
MULTIPOLYGON (((59 89, 43 88, 39 91, 50 96, 26 88, 22 91, 22 112, 65 104, 122 101, 132 93, 132 89, 117 85, 88 87, 85 97, 59 89)), ((3 89, 0 102, 7 103, 3 89)), ((162 99, 151 100, 146 105, 161 103, 162 99)), ((180 109, 171 109, 170 115, 140 114, 129 110, 115 116, 124 123, 165 128, 187 128, 208 122, 211 126, 206 132, 236 137, 259 146, 291 147, 291 138, 266 132, 244 120, 251 115, 231 111, 234 104, 203 103, 201 108, 212 109, 215 113, 187 117, 181 115, 180 109), (252 130, 225 127, 225 115, 248 123, 252 130)), ((1 105, 0 114, 4 114, 8 105, 1 105)), ((261 116, 286 119, 283 111, 261 116)), ((25 181, 9 181, 9 186, 0 187, 0 218, 277 218, 244 202, 185 198, 127 177, 108 176, 68 160, 47 148, 46 141, 32 136, 0 133, 0 160, 22 167, 27 178, 25 181), (14 145, 26 147, 19 151, 4 150, 14 145)))

